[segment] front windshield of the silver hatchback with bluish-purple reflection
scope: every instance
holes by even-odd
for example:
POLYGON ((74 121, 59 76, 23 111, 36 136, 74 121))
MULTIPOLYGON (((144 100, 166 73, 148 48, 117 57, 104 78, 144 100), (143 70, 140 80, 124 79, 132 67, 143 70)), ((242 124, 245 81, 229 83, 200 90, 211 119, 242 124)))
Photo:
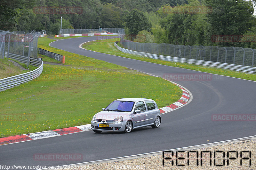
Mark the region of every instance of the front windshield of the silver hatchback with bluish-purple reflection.
POLYGON ((106 111, 123 111, 131 112, 134 102, 130 101, 114 101, 106 107, 106 111))

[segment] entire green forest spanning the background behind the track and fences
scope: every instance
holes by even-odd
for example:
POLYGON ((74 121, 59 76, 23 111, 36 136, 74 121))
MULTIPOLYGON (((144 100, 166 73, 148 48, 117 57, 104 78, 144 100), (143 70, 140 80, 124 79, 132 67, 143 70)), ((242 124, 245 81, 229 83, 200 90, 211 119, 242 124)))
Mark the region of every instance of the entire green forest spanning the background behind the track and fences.
POLYGON ((0 30, 125 28, 132 40, 256 48, 254 1, 1 0, 0 30), (143 37, 143 38, 142 38, 143 37))

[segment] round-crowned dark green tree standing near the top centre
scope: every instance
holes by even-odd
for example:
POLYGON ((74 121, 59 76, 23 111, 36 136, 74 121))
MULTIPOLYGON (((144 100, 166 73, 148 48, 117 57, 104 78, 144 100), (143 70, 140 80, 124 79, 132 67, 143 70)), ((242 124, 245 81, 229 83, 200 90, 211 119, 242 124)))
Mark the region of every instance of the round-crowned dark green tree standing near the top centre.
POLYGON ((130 35, 137 35, 139 31, 150 31, 151 23, 148 21, 143 12, 134 9, 124 18, 124 25, 129 30, 130 35))

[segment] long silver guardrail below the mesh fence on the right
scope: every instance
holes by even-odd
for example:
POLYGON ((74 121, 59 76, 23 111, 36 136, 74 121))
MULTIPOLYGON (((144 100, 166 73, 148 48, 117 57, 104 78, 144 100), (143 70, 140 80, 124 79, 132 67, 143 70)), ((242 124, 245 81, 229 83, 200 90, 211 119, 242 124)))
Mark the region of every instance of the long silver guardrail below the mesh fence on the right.
POLYGON ((124 53, 142 55, 142 56, 149 57, 152 59, 174 61, 174 62, 181 62, 181 63, 190 63, 190 64, 197 64, 197 65, 202 65, 202 66, 210 66, 210 67, 218 67, 218 68, 241 71, 241 72, 246 72, 246 73, 256 73, 256 67, 241 66, 241 65, 227 64, 227 63, 220 63, 220 62, 213 62, 213 61, 185 59, 185 58, 171 57, 171 56, 151 54, 151 53, 143 53, 143 52, 132 51, 132 50, 122 48, 122 47, 118 46, 116 44, 116 42, 115 42, 115 46, 118 50, 120 50, 124 53))

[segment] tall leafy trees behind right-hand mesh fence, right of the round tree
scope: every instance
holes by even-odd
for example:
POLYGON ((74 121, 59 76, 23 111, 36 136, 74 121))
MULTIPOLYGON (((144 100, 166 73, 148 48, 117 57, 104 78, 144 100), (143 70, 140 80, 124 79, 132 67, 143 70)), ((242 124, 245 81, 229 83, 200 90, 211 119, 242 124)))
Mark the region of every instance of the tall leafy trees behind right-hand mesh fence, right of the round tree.
POLYGON ((175 8, 164 5, 158 14, 165 34, 155 30, 156 39, 165 35, 168 43, 177 45, 255 47, 242 38, 255 35, 253 11, 252 2, 245 0, 188 0, 175 8))

